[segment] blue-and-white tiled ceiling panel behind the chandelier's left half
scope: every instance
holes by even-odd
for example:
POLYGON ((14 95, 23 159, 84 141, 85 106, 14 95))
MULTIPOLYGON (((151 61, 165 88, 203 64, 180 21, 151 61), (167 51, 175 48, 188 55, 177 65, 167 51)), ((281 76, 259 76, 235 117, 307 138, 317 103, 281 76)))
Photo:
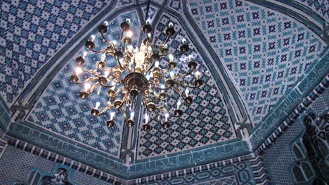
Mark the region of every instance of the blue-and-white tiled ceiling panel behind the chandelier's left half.
MULTIPOLYGON (((136 28, 134 29, 134 42, 137 42, 139 20, 136 11, 124 13, 114 20, 108 20, 111 29, 109 29, 107 36, 110 41, 120 38, 120 23, 127 18, 131 19, 131 27, 136 28)), ((96 46, 99 46, 99 48, 106 46, 101 40, 101 36, 97 32, 94 32, 94 34, 97 35, 95 39, 96 46)), ((79 97, 79 91, 83 89, 83 85, 72 84, 69 79, 75 73, 74 69, 77 67, 75 58, 82 55, 85 50, 86 48, 81 48, 79 53, 75 57, 72 57, 56 75, 34 105, 29 116, 27 116, 27 121, 92 146, 95 149, 110 153, 113 156, 118 156, 120 153, 123 127, 122 115, 117 115, 116 125, 108 128, 105 124, 105 121, 109 118, 108 114, 94 117, 90 113, 97 101, 101 102, 100 109, 105 107, 106 102, 108 102, 105 95, 106 90, 101 91, 103 93, 101 94, 101 98, 95 92, 87 100, 82 100, 79 97)), ((101 60, 101 56, 89 52, 85 60, 86 68, 91 69, 95 64, 93 61, 101 60)), ((115 66, 115 61, 112 57, 107 57, 105 62, 109 66, 115 66)), ((86 76, 80 75, 80 78, 86 78, 86 76)))

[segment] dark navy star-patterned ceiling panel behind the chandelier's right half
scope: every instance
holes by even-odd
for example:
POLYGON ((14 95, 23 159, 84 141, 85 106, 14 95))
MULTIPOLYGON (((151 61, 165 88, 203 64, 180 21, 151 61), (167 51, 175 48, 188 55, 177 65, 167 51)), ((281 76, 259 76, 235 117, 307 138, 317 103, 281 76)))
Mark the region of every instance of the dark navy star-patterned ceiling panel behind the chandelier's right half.
MULTIPOLYGON (((184 114, 181 118, 170 118, 172 124, 171 128, 165 130, 157 123, 155 114, 153 113, 150 115, 151 130, 145 132, 140 128, 139 131, 138 159, 185 151, 208 144, 224 142, 237 137, 231 117, 228 114, 226 102, 224 102, 223 95, 218 88, 217 82, 208 71, 207 64, 200 58, 200 54, 196 47, 193 46, 186 31, 181 27, 176 18, 165 13, 162 14, 155 29, 155 46, 160 46, 162 41, 166 39, 162 30, 167 27, 169 22, 173 22, 176 29, 174 39, 168 43, 169 50, 171 52, 177 52, 176 49, 181 45, 181 39, 186 38, 191 48, 189 54, 193 55, 195 60, 198 61, 198 70, 202 71, 202 80, 205 83, 201 88, 195 90, 190 89, 193 103, 191 106, 188 106, 182 102, 181 109, 184 111, 184 114)), ((188 71, 187 55, 176 58, 176 62, 179 62, 179 64, 174 70, 175 74, 178 72, 186 73, 188 71)), ((167 67, 167 60, 161 60, 160 65, 161 67, 167 67)), ((186 81, 190 83, 192 83, 193 80, 194 75, 186 78, 186 81)), ((167 108, 169 111, 174 111, 177 100, 179 100, 179 96, 172 91, 169 92, 169 98, 167 100, 167 108)), ((144 112, 145 110, 142 111, 141 115, 143 115, 144 112)), ((162 121, 163 119, 164 115, 162 115, 162 121)), ((141 123, 144 123, 144 116, 142 116, 140 120, 141 123)))

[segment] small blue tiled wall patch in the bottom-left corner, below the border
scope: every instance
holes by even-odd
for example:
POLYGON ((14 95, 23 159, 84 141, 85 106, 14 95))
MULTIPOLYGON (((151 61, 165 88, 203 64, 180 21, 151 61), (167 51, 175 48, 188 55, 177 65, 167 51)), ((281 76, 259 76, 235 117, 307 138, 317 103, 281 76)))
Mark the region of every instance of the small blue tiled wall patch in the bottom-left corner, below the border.
POLYGON ((12 179, 25 181, 34 167, 49 172, 53 162, 8 146, 0 158, 0 184, 11 184, 12 179))

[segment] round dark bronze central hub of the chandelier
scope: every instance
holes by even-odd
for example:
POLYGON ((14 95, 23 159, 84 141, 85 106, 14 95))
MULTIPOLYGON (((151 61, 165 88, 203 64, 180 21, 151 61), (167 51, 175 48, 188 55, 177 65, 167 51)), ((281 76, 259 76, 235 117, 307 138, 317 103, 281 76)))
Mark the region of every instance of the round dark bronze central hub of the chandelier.
POLYGON ((124 88, 131 92, 132 90, 138 90, 138 92, 143 92, 148 86, 148 79, 141 73, 132 72, 124 77, 124 88))

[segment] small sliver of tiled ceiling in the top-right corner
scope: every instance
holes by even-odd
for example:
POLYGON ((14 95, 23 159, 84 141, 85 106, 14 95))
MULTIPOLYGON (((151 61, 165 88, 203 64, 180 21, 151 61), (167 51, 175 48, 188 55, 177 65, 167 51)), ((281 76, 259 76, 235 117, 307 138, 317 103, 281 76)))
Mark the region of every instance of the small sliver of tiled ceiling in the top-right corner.
POLYGON ((312 11, 315 11, 320 15, 326 22, 329 22, 329 1, 323 0, 294 0, 299 4, 303 4, 312 11))

